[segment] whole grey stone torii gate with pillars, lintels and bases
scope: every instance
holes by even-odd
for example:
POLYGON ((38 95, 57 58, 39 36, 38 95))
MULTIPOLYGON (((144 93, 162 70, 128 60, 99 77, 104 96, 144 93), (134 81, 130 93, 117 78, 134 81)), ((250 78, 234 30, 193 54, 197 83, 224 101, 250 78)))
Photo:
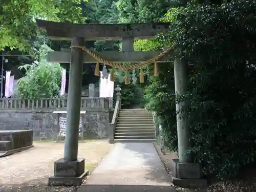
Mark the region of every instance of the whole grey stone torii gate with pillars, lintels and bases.
MULTIPOLYGON (((64 157, 54 164, 54 176, 49 178, 50 185, 80 185, 82 178, 87 175, 84 171, 84 159, 78 156, 78 132, 80 117, 80 97, 83 63, 97 63, 95 55, 104 58, 102 63, 108 62, 110 66, 119 66, 121 62, 166 62, 173 51, 134 52, 134 39, 154 38, 157 34, 168 29, 168 23, 146 23, 146 24, 71 24, 56 23, 46 20, 36 20, 37 26, 47 32, 53 40, 71 40, 71 49, 64 49, 60 52, 49 52, 49 62, 70 63, 68 108, 67 108, 67 129, 64 157), (121 52, 91 52, 83 49, 85 40, 122 40, 121 52), (83 52, 85 51, 85 52, 83 52), (168 52, 168 53, 167 53, 168 52), (161 55, 162 54, 162 55, 161 55), (160 55, 160 56, 159 56, 160 55), (152 58, 157 58, 157 60, 152 58), (103 62, 105 61, 105 62, 103 62)), ((138 65, 136 65, 138 66, 138 65)), ((145 66, 145 65, 144 65, 145 66)), ((127 68, 128 69, 128 68, 127 68)), ((131 69, 131 68, 129 68, 131 69)), ((177 94, 183 94, 186 88, 186 62, 175 58, 175 89, 177 94)), ((156 72, 157 73, 157 72, 156 72)), ((177 111, 183 108, 184 103, 176 105, 177 111)), ((190 148, 190 132, 184 114, 177 114, 179 160, 177 160, 175 177, 189 179, 191 173, 198 173, 197 165, 191 162, 191 156, 185 154, 190 148), (191 168, 192 167, 192 168, 191 168), (196 168, 195 168, 196 167, 196 168)), ((192 177, 195 178, 195 177, 192 177)))

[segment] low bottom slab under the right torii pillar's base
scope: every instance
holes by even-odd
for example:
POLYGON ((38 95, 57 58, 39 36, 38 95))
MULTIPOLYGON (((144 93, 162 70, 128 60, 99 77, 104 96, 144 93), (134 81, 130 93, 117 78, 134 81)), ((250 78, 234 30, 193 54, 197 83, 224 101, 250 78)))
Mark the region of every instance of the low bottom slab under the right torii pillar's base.
POLYGON ((193 188, 193 189, 205 189, 207 188, 206 179, 180 179, 173 177, 173 184, 183 188, 193 188))

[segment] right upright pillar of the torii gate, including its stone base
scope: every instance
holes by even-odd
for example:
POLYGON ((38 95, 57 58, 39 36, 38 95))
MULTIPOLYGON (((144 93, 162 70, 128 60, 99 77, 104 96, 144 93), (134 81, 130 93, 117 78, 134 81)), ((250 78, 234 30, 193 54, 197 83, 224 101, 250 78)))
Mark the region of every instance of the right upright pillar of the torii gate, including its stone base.
MULTIPOLYGON (((176 57, 174 61, 175 92, 177 96, 186 93, 187 86, 187 63, 183 58, 176 57)), ((179 159, 173 159, 174 170, 172 173, 173 183, 184 188, 207 187, 207 180, 203 179, 201 165, 193 162, 193 157, 187 153, 191 148, 191 133, 187 123, 186 101, 176 101, 177 134, 179 159)))

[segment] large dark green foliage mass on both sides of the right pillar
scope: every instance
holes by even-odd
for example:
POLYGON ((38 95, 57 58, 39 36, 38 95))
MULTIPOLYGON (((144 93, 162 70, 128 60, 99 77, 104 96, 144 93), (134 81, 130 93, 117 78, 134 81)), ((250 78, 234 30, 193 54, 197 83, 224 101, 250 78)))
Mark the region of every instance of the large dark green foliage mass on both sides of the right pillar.
MULTIPOLYGON (((243 0, 190 3, 166 15, 172 24, 165 38, 189 63, 184 99, 190 150, 207 174, 219 178, 236 176, 256 157, 255 8, 255 1, 243 0)), ((173 66, 159 65, 159 70, 145 99, 160 119, 170 150, 177 151, 173 66)))

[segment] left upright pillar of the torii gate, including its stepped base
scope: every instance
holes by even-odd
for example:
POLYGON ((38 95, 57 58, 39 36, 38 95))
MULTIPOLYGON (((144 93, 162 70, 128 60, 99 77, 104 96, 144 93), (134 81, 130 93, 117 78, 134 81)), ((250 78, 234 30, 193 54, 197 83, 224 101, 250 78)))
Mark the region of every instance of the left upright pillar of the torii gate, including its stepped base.
MULTIPOLYGON (((72 38, 72 46, 83 46, 83 42, 84 38, 82 37, 72 38)), ((77 158, 81 109, 82 60, 82 50, 71 48, 64 157, 55 161, 54 176, 49 177, 49 185, 81 185, 83 177, 88 173, 84 170, 84 158, 77 158)))

